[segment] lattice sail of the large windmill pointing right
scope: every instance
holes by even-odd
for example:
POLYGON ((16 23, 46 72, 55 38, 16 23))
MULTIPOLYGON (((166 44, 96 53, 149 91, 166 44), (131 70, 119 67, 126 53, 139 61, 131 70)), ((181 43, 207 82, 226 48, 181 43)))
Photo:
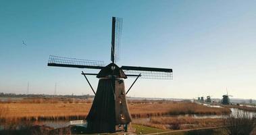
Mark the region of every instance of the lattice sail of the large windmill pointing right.
POLYGON ((127 76, 140 74, 140 78, 145 79, 172 80, 172 69, 169 68, 122 66, 121 69, 127 76))

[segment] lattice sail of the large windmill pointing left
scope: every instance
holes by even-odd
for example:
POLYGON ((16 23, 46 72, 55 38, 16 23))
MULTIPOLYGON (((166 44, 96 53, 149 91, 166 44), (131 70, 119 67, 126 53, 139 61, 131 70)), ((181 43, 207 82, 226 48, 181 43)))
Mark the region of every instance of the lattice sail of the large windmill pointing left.
POLYGON ((50 55, 48 65, 67 68, 91 68, 101 70, 105 64, 104 61, 94 61, 50 55))

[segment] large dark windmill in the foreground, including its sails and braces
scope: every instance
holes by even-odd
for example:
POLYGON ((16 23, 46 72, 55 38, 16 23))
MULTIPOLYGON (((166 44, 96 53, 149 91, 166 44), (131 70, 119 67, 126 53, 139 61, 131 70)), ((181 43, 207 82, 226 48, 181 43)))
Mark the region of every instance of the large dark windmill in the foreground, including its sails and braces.
POLYGON ((50 55, 48 65, 68 68, 88 68, 100 70, 98 74, 84 73, 82 75, 95 93, 95 99, 89 111, 87 132, 116 132, 116 128, 124 128, 127 131, 128 124, 132 121, 126 94, 132 88, 138 78, 171 80, 172 69, 170 68, 147 68, 122 65, 116 62, 119 59, 119 45, 122 34, 122 18, 112 18, 111 29, 111 63, 105 66, 103 61, 74 59, 50 55), (99 78, 97 91, 93 89, 86 75, 99 78), (135 77, 132 85, 125 90, 124 79, 135 77))

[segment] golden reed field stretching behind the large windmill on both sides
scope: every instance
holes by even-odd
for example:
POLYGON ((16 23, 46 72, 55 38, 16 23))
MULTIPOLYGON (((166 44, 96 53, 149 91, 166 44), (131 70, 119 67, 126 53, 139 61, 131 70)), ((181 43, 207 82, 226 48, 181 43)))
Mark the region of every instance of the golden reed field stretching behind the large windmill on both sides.
MULTIPOLYGON (((18 101, 0 103, 2 119, 83 119, 91 109, 92 103, 86 101, 18 101)), ((228 114, 228 108, 211 108, 196 103, 129 103, 133 118, 180 114, 228 114)))

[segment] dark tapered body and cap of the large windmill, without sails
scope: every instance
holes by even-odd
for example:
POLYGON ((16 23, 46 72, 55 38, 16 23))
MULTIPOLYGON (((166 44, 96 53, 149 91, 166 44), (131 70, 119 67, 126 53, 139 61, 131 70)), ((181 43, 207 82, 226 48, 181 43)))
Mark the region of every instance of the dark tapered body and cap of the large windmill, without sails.
POLYGON ((110 63, 97 75, 99 84, 87 121, 89 132, 115 132, 116 125, 129 124, 130 112, 126 101, 123 70, 110 63))

